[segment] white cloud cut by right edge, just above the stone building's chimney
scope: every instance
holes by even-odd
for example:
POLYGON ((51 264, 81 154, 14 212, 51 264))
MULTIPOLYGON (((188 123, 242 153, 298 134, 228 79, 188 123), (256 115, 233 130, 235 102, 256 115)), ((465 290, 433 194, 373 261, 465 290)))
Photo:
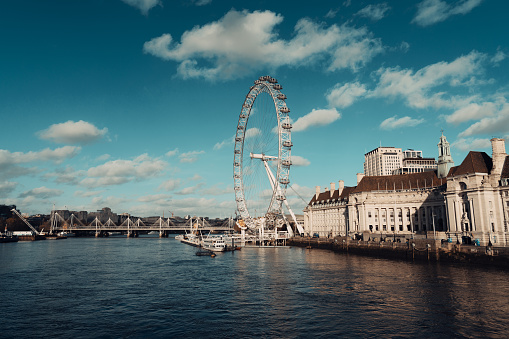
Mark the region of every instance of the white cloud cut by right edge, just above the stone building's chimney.
POLYGON ((500 103, 497 111, 458 134, 460 138, 476 134, 505 135, 509 133, 509 103, 500 103))

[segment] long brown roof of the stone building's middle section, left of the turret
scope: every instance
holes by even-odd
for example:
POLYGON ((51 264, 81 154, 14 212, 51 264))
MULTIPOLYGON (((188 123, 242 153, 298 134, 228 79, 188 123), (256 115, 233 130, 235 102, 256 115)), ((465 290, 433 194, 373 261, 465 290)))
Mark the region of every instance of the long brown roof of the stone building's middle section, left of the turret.
POLYGON ((439 179, 435 171, 399 175, 365 176, 352 193, 431 188, 445 184, 446 180, 439 179))

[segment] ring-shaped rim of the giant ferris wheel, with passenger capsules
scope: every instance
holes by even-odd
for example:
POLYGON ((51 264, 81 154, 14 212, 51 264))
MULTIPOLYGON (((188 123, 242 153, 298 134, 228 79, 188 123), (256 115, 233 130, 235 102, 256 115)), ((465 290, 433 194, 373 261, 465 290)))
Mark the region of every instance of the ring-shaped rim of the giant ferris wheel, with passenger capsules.
POLYGON ((237 124, 233 164, 235 199, 240 217, 245 221, 248 228, 251 229, 256 228, 256 225, 248 209, 244 191, 244 142, 251 109, 258 95, 263 92, 269 94, 272 98, 278 125, 277 172, 275 175, 275 187, 273 187, 272 197, 265 214, 266 216, 282 213, 282 203, 285 199, 287 185, 289 184, 291 147, 293 146, 291 142, 292 126, 289 118, 290 110, 285 102, 286 96, 281 93, 281 89, 282 86, 277 83, 277 80, 270 76, 262 76, 257 79, 246 95, 237 124))

